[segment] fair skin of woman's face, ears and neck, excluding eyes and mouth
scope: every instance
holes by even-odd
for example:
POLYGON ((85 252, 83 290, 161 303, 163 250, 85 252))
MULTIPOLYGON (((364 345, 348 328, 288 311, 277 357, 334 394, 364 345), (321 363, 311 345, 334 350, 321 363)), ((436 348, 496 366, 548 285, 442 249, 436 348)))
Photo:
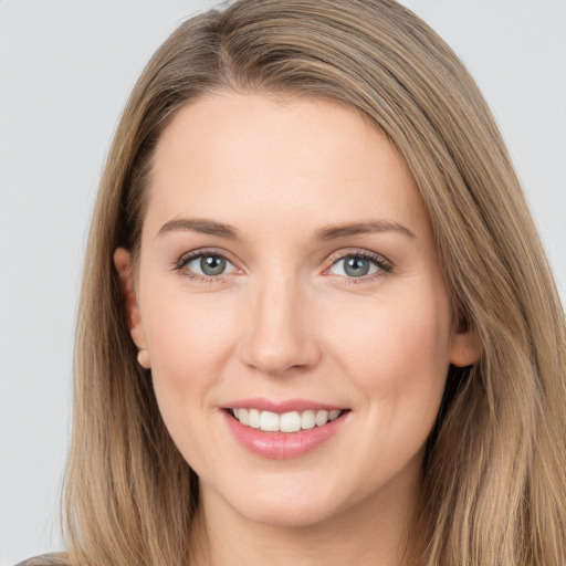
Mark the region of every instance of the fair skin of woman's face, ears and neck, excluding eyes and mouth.
POLYGON ((400 564, 449 364, 479 347, 457 331, 426 209, 386 138, 329 102, 200 98, 158 144, 136 280, 126 250, 115 262, 139 360, 200 478, 206 562, 400 564), (188 218, 238 238, 163 231, 188 218), (315 238, 375 220, 406 231, 315 238), (182 260, 202 249, 227 272, 195 276, 182 260), (348 275, 356 253, 390 271, 348 275), (314 451, 271 460, 226 424, 222 408, 252 397, 350 412, 314 451))

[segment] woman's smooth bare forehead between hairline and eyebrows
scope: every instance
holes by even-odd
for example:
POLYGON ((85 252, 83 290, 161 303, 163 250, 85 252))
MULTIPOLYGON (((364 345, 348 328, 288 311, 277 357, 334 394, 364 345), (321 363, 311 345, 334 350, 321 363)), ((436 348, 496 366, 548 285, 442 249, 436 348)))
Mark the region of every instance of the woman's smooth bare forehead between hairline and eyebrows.
POLYGON ((149 191, 148 221, 191 216, 247 224, 304 216, 328 223, 378 214, 417 230, 428 224, 394 146, 354 109, 319 99, 197 99, 164 132, 149 191))

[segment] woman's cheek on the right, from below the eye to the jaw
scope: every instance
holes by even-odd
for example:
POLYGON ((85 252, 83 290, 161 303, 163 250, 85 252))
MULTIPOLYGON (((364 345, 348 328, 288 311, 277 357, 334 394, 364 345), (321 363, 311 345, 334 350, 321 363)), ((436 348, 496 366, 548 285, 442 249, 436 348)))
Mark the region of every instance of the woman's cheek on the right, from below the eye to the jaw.
POLYGON ((374 302, 359 319, 339 316, 335 329, 338 319, 344 338, 331 348, 358 392, 360 430, 367 427, 352 465, 375 486, 413 469, 409 462, 420 467, 448 375, 449 302, 415 290, 374 302))

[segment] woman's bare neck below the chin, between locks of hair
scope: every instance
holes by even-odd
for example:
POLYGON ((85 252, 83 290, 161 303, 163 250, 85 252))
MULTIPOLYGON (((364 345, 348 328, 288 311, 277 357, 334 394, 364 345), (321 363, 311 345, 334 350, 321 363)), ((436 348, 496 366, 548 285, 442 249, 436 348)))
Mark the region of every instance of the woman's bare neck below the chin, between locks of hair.
POLYGON ((251 521, 201 484, 191 564, 402 566, 417 490, 392 488, 316 524, 281 526, 251 521))

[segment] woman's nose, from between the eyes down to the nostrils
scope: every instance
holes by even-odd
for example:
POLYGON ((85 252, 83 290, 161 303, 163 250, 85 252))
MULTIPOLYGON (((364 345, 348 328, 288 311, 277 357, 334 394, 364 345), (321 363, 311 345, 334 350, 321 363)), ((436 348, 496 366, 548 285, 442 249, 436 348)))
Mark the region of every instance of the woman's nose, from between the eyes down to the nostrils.
POLYGON ((258 283, 251 293, 247 328, 240 344, 242 361, 269 375, 286 375, 314 367, 321 350, 313 308, 300 285, 286 280, 258 283))

